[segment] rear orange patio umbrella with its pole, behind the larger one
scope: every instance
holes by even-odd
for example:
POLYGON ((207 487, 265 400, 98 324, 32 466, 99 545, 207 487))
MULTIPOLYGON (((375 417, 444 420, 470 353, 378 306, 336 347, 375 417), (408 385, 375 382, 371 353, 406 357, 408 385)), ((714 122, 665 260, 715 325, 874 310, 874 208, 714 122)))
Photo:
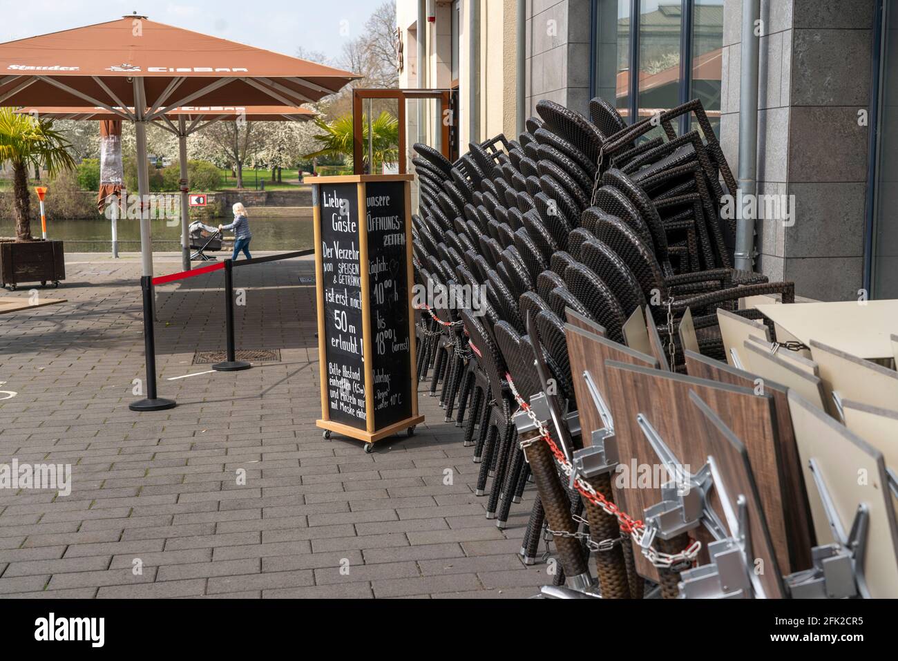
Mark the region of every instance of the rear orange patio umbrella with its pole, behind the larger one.
MULTIPOLYGON (((108 122, 119 119, 119 115, 115 110, 122 109, 106 109, 99 106, 76 106, 70 108, 65 106, 28 106, 16 111, 33 117, 100 121, 102 128, 108 122)), ((124 110, 134 112, 133 108, 124 110)), ((178 160, 180 161, 180 241, 183 256, 182 267, 184 270, 190 269, 187 137, 212 126, 218 121, 308 121, 314 117, 315 113, 312 110, 295 106, 184 106, 173 108, 154 119, 155 126, 163 128, 178 137, 178 160), (177 121, 177 124, 175 124, 175 121, 177 121)), ((120 189, 121 187, 119 186, 120 189)), ((101 186, 100 193, 101 199, 105 199, 110 194, 114 194, 114 191, 111 189, 105 190, 101 186)))

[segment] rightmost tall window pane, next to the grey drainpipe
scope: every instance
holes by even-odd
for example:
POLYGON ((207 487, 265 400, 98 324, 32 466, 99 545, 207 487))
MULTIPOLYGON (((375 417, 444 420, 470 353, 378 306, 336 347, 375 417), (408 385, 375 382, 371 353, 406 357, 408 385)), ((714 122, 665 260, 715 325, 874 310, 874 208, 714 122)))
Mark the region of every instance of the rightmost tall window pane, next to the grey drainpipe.
MULTIPOLYGON (((695 0, 692 14, 690 99, 700 99, 720 137, 720 78, 724 45, 724 0, 695 0)), ((697 127, 696 127, 697 128, 697 127)))

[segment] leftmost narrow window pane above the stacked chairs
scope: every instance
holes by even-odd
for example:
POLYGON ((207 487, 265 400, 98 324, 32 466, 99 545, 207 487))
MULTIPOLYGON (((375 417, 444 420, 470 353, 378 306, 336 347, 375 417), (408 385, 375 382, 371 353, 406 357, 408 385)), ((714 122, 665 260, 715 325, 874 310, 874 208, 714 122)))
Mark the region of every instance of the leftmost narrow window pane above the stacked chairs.
POLYGON ((629 121, 629 0, 598 0, 595 21, 595 95, 629 121))

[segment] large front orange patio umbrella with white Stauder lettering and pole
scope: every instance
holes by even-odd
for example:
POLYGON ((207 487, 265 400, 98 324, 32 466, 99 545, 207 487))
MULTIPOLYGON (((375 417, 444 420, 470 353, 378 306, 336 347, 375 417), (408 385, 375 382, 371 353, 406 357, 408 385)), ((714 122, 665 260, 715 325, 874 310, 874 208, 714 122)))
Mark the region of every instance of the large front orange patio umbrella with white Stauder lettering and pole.
MULTIPOLYGON (((142 200, 149 193, 147 121, 188 104, 297 106, 357 77, 137 14, 0 43, 0 104, 74 107, 86 101, 134 122, 142 200)), ((152 276, 150 222, 143 216, 142 269, 152 276)))

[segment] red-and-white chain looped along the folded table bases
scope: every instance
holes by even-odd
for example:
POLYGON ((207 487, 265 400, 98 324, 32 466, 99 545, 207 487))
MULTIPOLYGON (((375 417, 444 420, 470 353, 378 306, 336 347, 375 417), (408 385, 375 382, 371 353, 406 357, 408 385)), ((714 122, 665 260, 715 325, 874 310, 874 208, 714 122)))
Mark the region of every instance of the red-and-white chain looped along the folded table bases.
MULTIPOLYGON (((574 472, 574 467, 568 462, 568 459, 565 457, 564 453, 561 452, 559 446, 555 445, 555 441, 552 440, 549 430, 542 424, 541 420, 536 419, 536 414, 531 410, 530 404, 524 401, 524 398, 517 392, 515 383, 510 374, 506 374, 506 381, 508 382, 508 388, 515 397, 518 406, 526 411, 527 417, 533 420, 533 425, 540 432, 540 436, 530 440, 521 441, 521 448, 525 449, 541 438, 547 445, 549 445, 551 453, 559 464, 559 470, 564 473, 568 480, 570 480, 571 473, 574 472)), ((618 523, 621 526, 621 531, 629 534, 630 538, 632 538, 633 542, 637 543, 642 554, 653 566, 657 568, 672 568, 674 566, 682 567, 682 565, 687 563, 691 565, 692 561, 699 555, 699 551, 701 551, 701 542, 699 541, 692 542, 689 547, 683 549, 679 553, 663 553, 657 551, 650 543, 651 539, 654 538, 654 533, 649 533, 647 531, 646 524, 638 519, 634 519, 614 503, 609 502, 601 493, 598 493, 588 482, 585 482, 581 478, 577 477, 577 479, 574 480, 574 486, 577 487, 577 491, 579 491, 584 498, 587 498, 596 507, 602 509, 605 514, 617 518, 618 523), (647 540, 646 537, 648 535, 651 536, 647 540)), ((571 533, 565 534, 570 535, 571 533)), ((600 545, 603 544, 603 542, 598 543, 600 545)))

